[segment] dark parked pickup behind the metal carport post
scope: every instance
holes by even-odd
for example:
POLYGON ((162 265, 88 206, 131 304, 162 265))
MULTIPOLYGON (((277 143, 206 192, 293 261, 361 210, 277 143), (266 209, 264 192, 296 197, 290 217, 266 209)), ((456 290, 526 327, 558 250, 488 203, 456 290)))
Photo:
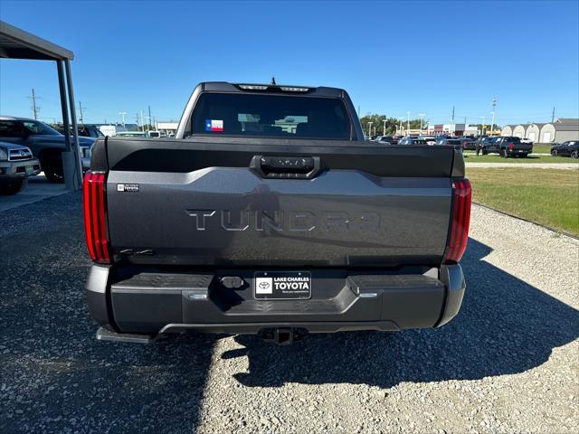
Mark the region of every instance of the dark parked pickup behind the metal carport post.
MULTIPOLYGON (((46 178, 52 183, 64 182, 62 152, 66 149, 64 136, 39 120, 0 116, 0 140, 27 146, 40 160, 46 178)), ((90 146, 94 138, 79 137, 82 168, 90 168, 90 146)))

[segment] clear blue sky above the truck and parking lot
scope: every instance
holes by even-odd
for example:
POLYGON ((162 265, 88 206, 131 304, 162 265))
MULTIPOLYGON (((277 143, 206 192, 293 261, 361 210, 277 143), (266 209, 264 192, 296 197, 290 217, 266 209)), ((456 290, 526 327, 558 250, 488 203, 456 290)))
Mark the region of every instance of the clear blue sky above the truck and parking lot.
MULTIPOLYGON (((27 2, 0 20, 71 50, 86 123, 178 119, 200 81, 346 89, 361 116, 579 118, 579 1, 27 2)), ((52 61, 0 60, 0 113, 60 121, 52 61)))

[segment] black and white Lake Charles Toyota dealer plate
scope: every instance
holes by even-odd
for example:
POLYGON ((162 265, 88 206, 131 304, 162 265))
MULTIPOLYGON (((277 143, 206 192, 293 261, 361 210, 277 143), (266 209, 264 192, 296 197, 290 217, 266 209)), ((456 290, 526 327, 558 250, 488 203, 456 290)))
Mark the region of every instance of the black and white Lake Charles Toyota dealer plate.
POLYGON ((258 271, 253 276, 258 300, 307 300, 311 297, 309 271, 258 271))

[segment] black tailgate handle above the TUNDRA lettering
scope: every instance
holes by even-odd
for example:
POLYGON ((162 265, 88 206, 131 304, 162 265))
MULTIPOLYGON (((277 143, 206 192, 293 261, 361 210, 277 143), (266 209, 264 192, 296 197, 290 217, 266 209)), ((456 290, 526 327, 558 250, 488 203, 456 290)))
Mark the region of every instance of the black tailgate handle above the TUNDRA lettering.
POLYGON ((266 178, 309 179, 320 164, 318 156, 253 156, 251 167, 266 178))

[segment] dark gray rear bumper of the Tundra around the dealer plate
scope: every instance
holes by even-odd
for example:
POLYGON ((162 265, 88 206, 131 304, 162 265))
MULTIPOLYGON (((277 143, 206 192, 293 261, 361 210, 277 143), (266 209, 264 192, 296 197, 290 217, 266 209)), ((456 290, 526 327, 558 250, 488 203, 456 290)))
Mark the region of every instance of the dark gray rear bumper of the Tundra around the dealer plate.
POLYGON ((288 327, 333 333, 438 327, 457 315, 465 290, 458 264, 398 275, 312 270, 309 300, 255 300, 252 275, 252 270, 127 273, 93 265, 87 299, 91 316, 117 334, 255 334, 288 327), (232 273, 242 277, 242 287, 221 284, 232 273))

